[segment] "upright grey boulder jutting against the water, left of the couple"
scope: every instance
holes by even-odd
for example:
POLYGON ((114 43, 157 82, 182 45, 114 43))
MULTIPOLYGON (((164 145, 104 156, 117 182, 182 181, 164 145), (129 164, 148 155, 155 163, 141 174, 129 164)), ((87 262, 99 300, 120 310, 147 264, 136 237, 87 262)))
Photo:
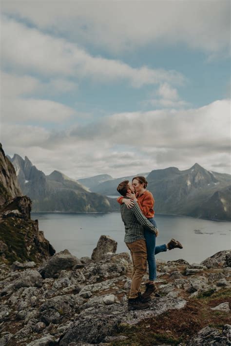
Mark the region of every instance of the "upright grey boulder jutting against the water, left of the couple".
POLYGON ((91 259, 95 262, 101 261, 103 255, 109 253, 116 253, 117 242, 109 235, 101 235, 96 248, 92 252, 91 259))

